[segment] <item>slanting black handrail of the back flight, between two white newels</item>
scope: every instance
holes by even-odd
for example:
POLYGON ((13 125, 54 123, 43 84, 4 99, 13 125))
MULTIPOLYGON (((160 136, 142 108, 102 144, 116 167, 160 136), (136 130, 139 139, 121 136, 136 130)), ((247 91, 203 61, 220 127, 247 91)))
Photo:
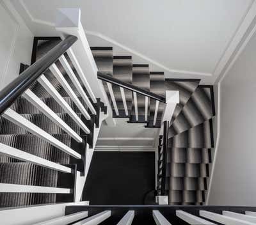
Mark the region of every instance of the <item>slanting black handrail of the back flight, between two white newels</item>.
POLYGON ((102 80, 102 81, 106 81, 106 82, 109 82, 111 84, 116 84, 117 86, 120 86, 122 88, 125 88, 125 89, 129 89, 130 91, 134 91, 136 93, 139 93, 141 95, 144 95, 144 96, 147 96, 149 98, 153 98, 159 102, 165 102, 165 98, 164 97, 161 97, 160 95, 156 95, 155 93, 152 93, 150 91, 146 91, 145 89, 143 88, 139 88, 137 86, 134 86, 132 84, 128 84, 126 82, 123 82, 123 81, 120 81, 114 77, 111 77, 110 75, 108 74, 104 74, 102 72, 98 72, 98 79, 102 80))

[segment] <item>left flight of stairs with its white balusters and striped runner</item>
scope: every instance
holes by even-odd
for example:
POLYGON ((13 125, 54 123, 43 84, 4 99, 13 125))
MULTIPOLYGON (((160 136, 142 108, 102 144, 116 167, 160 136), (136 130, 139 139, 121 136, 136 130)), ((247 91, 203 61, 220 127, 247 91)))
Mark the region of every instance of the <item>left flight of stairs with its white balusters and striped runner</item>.
MULTIPOLYGON (((54 39, 36 46, 37 66, 77 38, 54 39)), ((33 66, 21 65, 18 79, 33 66)), ((0 207, 76 201, 77 176, 88 172, 86 151, 104 114, 104 104, 88 94, 63 52, 0 118, 0 207)))

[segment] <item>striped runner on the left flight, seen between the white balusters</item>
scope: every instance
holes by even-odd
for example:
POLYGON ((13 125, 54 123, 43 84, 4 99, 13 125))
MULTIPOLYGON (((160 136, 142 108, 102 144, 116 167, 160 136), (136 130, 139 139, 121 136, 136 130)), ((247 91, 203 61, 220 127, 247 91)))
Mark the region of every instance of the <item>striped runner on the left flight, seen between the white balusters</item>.
MULTIPOLYGON (((47 41, 42 42, 38 45, 37 50, 37 59, 42 57, 49 49, 58 44, 59 41, 47 41)), ((67 56, 66 56, 67 57, 67 56)), ((68 59, 68 58, 67 58, 68 59)), ((70 61, 68 59, 68 61, 70 61)), ((68 83, 72 89, 76 92, 79 100, 87 109, 86 104, 84 104, 83 99, 79 96, 78 91, 72 82, 68 78, 67 74, 63 71, 63 68, 60 65, 60 62, 56 62, 56 65, 61 70, 62 74, 67 79, 68 83)), ((72 66, 72 65, 71 65, 72 66)), ((73 66, 72 66, 73 67, 73 66)), ((73 67, 74 70, 74 67, 73 67)), ((76 74, 76 70, 74 70, 76 74)), ((70 105, 70 107, 77 113, 77 116, 81 118, 82 121, 88 126, 92 121, 87 121, 83 115, 79 112, 74 102, 71 98, 68 97, 65 89, 62 88, 60 83, 55 79, 49 70, 47 70, 44 75, 49 79, 51 84, 65 101, 70 105)), ((79 79, 79 77, 77 77, 79 79)), ((31 86, 31 90, 38 96, 40 99, 57 113, 60 118, 67 123, 74 131, 77 132, 80 136, 85 136, 83 130, 75 123, 70 116, 63 111, 60 105, 45 91, 42 86, 36 82, 31 86)), ((67 144, 70 148, 81 153, 83 149, 86 151, 85 144, 77 143, 72 139, 68 134, 66 134, 60 127, 53 123, 49 118, 42 114, 36 107, 30 104, 25 98, 18 98, 12 105, 12 109, 17 113, 24 116, 27 120, 35 123, 38 127, 42 128, 56 139, 60 140, 62 143, 67 144)), ((90 113, 90 111, 88 110, 90 113)), ((92 117, 93 118, 93 117, 92 117)), ((90 127, 90 135, 87 136, 88 143, 92 143, 93 138, 93 128, 90 127)), ((52 146, 51 144, 45 142, 44 140, 36 137, 33 134, 30 134, 23 128, 15 125, 14 123, 0 118, 0 143, 8 144, 14 148, 17 148, 22 151, 26 151, 38 157, 42 157, 52 162, 59 164, 73 164, 76 162, 76 159, 70 157, 67 153, 58 150, 58 148, 52 146)), ((79 168, 77 168, 79 170, 79 168)), ((54 171, 52 169, 47 169, 45 167, 36 166, 28 162, 21 162, 20 160, 13 159, 11 157, 6 157, 0 155, 0 182, 1 183, 14 183, 20 185, 38 185, 46 187, 59 187, 60 186, 60 176, 63 176, 63 173, 54 171)), ((67 185, 67 184, 65 184, 67 185)), ((69 185, 69 184, 68 184, 69 185)), ((74 183, 70 183, 74 187, 74 183)), ((69 187, 65 187, 69 188, 69 187)), ((8 206, 23 206, 23 205, 35 205, 35 204, 45 204, 45 203, 56 203, 60 198, 61 194, 37 194, 37 193, 0 193, 0 207, 8 206)), ((62 194, 62 199, 67 199, 65 194, 62 194)))

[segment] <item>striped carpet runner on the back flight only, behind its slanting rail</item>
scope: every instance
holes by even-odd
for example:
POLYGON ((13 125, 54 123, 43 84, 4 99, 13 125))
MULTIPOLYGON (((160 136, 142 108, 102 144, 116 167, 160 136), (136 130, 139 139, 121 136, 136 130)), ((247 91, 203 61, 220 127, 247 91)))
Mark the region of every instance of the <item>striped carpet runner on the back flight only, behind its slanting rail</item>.
MULTIPOLYGON (((93 57, 100 72, 104 72, 111 77, 120 79, 120 81, 133 84, 139 88, 151 91, 162 97, 165 97, 164 73, 150 72, 149 66, 146 64, 132 64, 131 56, 113 56, 112 47, 91 47, 93 57)), ((103 82, 106 93, 111 101, 109 89, 106 82, 103 82)), ((145 118, 145 97, 137 94, 138 102, 138 121, 135 116, 134 98, 132 91, 124 89, 125 100, 127 102, 128 115, 125 114, 124 103, 120 92, 120 87, 113 84, 113 93, 115 95, 116 105, 118 107, 118 115, 116 115, 113 103, 113 117, 129 118, 129 123, 145 123, 145 127, 160 127, 161 116, 164 110, 164 103, 159 102, 156 125, 154 126, 154 113, 156 100, 148 99, 148 116, 145 118)))

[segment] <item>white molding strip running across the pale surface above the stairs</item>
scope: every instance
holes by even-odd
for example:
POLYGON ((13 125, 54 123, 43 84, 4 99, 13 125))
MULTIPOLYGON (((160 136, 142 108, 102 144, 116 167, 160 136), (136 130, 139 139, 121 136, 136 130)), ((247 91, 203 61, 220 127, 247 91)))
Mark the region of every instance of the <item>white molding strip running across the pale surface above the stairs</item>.
MULTIPOLYGON (((26 12, 27 16, 32 22, 35 22, 37 24, 44 24, 51 27, 55 26, 55 24, 52 22, 36 19, 35 17, 33 17, 33 15, 31 15, 31 13, 29 12, 28 7, 26 6, 26 3, 24 3, 24 0, 20 0, 20 4, 22 5, 22 7, 24 8, 24 11, 26 12)), ((108 36, 103 35, 102 33, 89 31, 89 30, 85 30, 85 33, 86 35, 97 36, 98 38, 101 38, 106 42, 116 45, 126 50, 127 52, 130 52, 131 54, 134 54, 135 56, 138 56, 139 58, 144 59, 149 64, 162 68, 166 72, 171 72, 173 74, 181 74, 181 75, 186 74, 186 75, 191 75, 193 77, 198 75, 202 77, 212 77, 214 82, 218 82, 220 81, 221 77, 223 77, 223 75, 227 74, 227 70, 229 70, 230 66, 232 66, 232 64, 234 63, 233 59, 237 58, 237 53, 239 54, 241 50, 243 50, 246 43, 248 43, 248 41, 250 40, 250 37, 252 35, 249 35, 248 29, 252 27, 252 22, 255 16, 256 16, 256 0, 253 0, 250 6, 248 6, 246 13, 244 13, 244 17, 243 19, 241 19, 239 26, 234 32, 234 35, 232 36, 232 38, 230 38, 230 41, 228 42, 227 47, 223 50, 223 54, 218 60, 218 63, 216 63, 216 66, 214 68, 214 71, 212 71, 212 73, 196 72, 196 71, 188 71, 188 70, 176 70, 174 68, 168 68, 167 66, 159 63, 158 61, 148 58, 147 56, 145 56, 144 54, 141 54, 137 50, 131 49, 126 45, 123 45, 122 43, 117 42, 113 38, 109 38, 108 36)), ((252 28, 253 30, 254 30, 254 27, 255 27, 255 23, 253 24, 253 28, 252 28)))

